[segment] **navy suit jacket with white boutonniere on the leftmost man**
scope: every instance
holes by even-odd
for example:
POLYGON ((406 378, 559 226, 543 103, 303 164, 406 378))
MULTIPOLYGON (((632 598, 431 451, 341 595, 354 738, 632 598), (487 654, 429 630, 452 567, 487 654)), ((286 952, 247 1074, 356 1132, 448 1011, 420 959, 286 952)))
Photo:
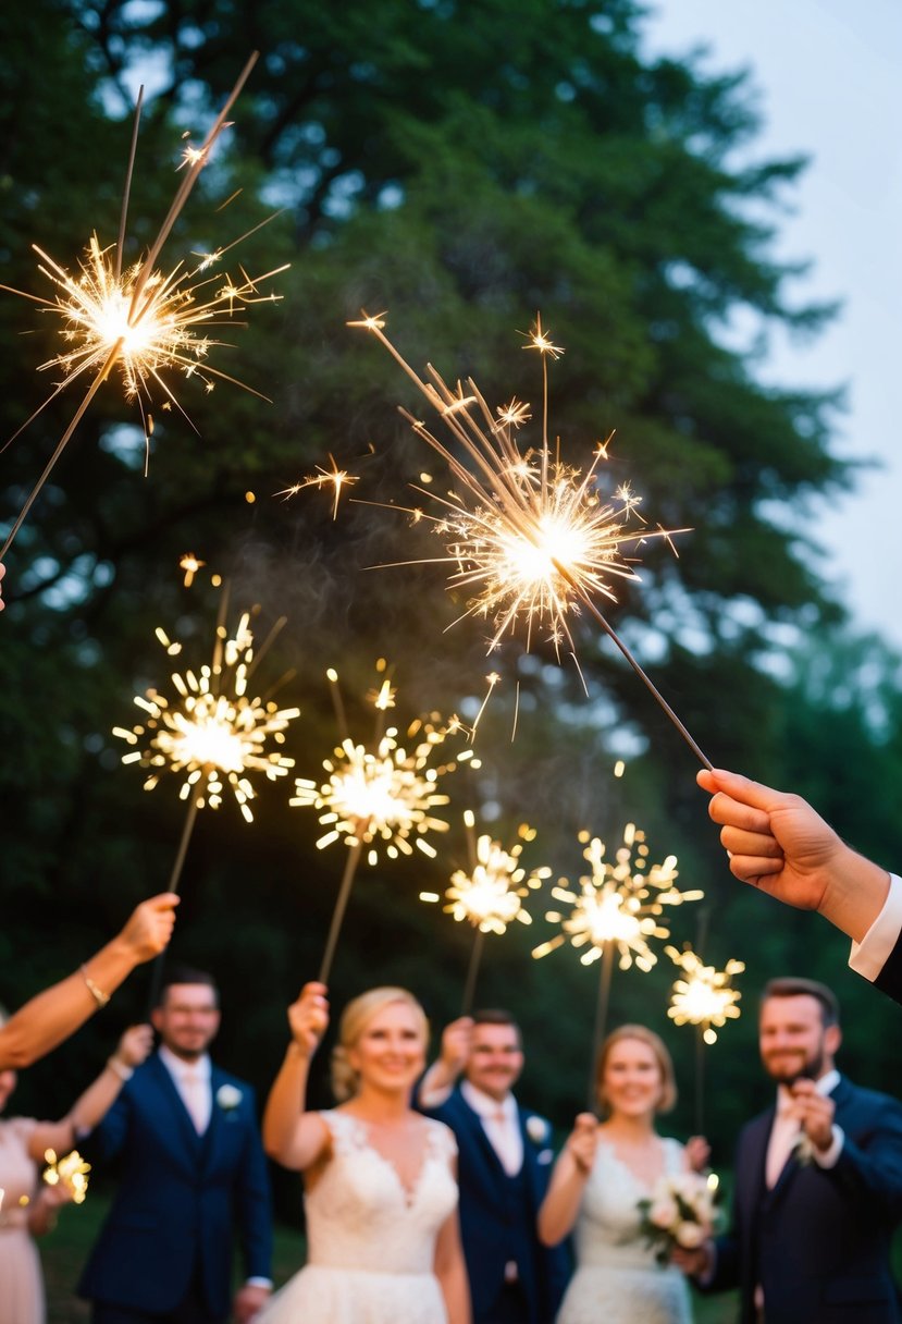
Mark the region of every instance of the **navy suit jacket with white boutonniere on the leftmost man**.
POLYGON ((78 1291, 153 1313, 175 1309, 200 1271, 206 1309, 225 1319, 241 1229, 249 1278, 268 1278, 272 1219, 266 1157, 250 1086, 212 1067, 213 1111, 197 1135, 157 1054, 138 1067, 90 1137, 89 1157, 120 1158, 112 1207, 78 1291), (224 1084, 239 1102, 217 1102, 224 1084))

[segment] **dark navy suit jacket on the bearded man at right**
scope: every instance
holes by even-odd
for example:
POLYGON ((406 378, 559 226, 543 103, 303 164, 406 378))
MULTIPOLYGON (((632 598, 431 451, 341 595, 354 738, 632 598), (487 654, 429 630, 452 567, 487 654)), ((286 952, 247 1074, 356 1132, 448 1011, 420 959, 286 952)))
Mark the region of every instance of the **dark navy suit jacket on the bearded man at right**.
POLYGON ((902 1221, 902 1104, 845 1078, 833 1091, 845 1132, 835 1168, 791 1157, 764 1185, 774 1108, 739 1136, 733 1229, 717 1242, 709 1287, 739 1287, 742 1321, 755 1319, 764 1291, 767 1324, 899 1324, 889 1264, 902 1221))

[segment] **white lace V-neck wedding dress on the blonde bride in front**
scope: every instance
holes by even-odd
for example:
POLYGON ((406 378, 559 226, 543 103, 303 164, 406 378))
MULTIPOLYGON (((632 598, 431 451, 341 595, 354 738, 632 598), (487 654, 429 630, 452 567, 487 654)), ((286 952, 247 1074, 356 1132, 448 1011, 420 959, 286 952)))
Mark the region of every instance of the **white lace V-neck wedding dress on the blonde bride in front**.
POLYGON ((451 1131, 429 1127, 423 1162, 407 1190, 397 1169, 347 1112, 321 1112, 332 1158, 304 1196, 307 1264, 254 1324, 446 1324, 432 1272, 435 1237, 458 1202, 451 1131))

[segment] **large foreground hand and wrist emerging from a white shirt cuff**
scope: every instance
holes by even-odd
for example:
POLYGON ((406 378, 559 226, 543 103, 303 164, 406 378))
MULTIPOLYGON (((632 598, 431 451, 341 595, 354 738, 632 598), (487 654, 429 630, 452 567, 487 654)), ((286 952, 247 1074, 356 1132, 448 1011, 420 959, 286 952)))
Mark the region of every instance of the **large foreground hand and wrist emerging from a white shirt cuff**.
POLYGON ((877 919, 889 874, 846 846, 800 796, 716 768, 698 773, 713 798, 731 873, 800 910, 816 910, 854 941, 877 919))

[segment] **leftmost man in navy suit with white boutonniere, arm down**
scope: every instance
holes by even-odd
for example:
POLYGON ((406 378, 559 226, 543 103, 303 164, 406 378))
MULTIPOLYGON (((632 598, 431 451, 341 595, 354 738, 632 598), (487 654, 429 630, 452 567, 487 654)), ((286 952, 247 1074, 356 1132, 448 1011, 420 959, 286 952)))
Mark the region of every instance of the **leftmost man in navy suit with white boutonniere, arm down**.
POLYGON ((254 1092, 214 1066, 209 974, 171 969, 151 1019, 160 1049, 90 1141, 119 1190, 79 1283, 95 1324, 246 1324, 271 1290, 272 1222, 254 1092), (231 1300, 233 1230, 247 1279, 231 1300))

